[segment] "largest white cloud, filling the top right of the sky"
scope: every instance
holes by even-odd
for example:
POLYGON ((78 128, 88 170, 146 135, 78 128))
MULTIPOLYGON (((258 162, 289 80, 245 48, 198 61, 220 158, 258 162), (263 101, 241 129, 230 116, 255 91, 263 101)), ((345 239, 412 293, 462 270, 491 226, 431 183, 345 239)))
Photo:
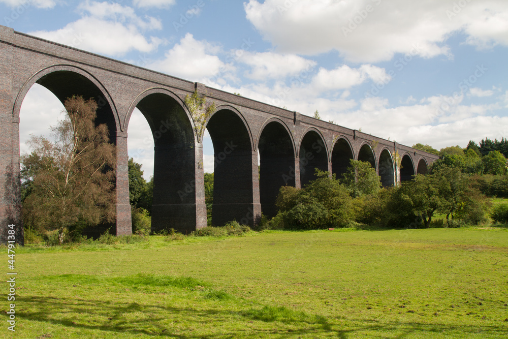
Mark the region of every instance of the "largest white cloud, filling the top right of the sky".
POLYGON ((508 2, 467 2, 455 9, 454 4, 441 0, 249 0, 244 7, 247 19, 264 39, 284 53, 315 55, 337 50, 355 62, 390 60, 395 53, 451 56, 446 40, 456 32, 465 33, 467 42, 478 47, 508 45, 508 2))

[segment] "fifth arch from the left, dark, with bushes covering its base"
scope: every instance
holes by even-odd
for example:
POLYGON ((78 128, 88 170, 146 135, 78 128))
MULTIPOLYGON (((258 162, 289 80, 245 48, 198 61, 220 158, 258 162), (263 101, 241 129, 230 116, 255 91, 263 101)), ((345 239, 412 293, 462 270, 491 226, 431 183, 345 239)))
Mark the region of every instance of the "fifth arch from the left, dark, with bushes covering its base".
POLYGON ((328 150, 324 140, 321 132, 315 128, 309 128, 303 134, 298 152, 302 187, 316 178, 316 168, 328 171, 328 150))

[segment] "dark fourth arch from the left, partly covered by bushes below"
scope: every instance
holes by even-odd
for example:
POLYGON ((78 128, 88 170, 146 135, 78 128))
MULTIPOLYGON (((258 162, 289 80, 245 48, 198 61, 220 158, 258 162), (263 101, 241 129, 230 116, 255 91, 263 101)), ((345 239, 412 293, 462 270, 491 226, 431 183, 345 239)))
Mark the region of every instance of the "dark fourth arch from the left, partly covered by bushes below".
POLYGON ((269 119, 258 137, 260 202, 267 217, 277 213, 275 200, 281 186, 295 186, 295 148, 290 130, 279 119, 269 119))

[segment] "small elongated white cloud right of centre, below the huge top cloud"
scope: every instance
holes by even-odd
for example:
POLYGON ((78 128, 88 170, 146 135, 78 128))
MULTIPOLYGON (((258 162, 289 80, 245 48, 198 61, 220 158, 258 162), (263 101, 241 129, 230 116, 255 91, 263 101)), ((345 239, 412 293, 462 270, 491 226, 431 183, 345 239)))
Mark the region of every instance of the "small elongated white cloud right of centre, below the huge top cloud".
POLYGON ((391 78, 384 68, 372 65, 362 65, 351 68, 342 65, 334 70, 320 68, 312 79, 312 85, 318 90, 335 90, 351 88, 371 79, 375 83, 388 83, 391 78))

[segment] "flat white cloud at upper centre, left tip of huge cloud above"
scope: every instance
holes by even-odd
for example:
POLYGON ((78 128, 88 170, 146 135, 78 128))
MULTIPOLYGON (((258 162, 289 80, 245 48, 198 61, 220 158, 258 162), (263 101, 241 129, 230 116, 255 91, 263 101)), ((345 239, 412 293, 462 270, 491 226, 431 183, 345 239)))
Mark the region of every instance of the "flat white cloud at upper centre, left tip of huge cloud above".
POLYGON ((280 79, 299 74, 301 71, 309 70, 316 66, 315 61, 295 54, 278 54, 273 52, 243 52, 238 61, 251 67, 250 72, 247 72, 245 76, 255 80, 265 80, 267 78, 280 79))

